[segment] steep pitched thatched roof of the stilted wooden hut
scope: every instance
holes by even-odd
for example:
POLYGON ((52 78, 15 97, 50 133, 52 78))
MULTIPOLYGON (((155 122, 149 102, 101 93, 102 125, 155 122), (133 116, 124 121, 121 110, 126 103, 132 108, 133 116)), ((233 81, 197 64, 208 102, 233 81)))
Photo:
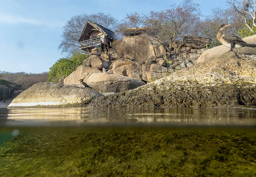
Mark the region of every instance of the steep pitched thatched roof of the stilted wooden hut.
POLYGON ((88 35, 87 33, 90 33, 92 31, 92 29, 99 30, 101 33, 103 33, 104 35, 106 35, 112 39, 115 39, 115 40, 119 39, 119 37, 113 31, 106 29, 105 27, 103 27, 97 23, 93 23, 93 22, 87 20, 87 23, 83 27, 83 31, 80 35, 78 42, 88 40, 90 38, 90 35, 88 35))

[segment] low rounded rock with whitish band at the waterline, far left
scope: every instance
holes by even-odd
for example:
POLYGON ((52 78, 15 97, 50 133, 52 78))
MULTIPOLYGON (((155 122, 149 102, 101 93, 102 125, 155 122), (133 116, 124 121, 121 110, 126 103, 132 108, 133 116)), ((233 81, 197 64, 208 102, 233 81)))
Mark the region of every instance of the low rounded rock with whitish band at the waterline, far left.
POLYGON ((23 91, 8 108, 68 108, 90 103, 103 95, 59 83, 40 82, 23 91))

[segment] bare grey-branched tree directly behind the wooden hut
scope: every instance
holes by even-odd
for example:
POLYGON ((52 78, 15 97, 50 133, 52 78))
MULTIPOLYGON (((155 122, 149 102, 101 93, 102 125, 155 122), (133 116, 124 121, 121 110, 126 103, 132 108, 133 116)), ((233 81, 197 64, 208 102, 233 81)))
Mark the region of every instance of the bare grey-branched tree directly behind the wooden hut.
POLYGON ((68 56, 72 56, 72 54, 75 54, 76 52, 83 52, 82 50, 79 50, 78 39, 87 20, 98 23, 99 25, 110 30, 116 30, 117 19, 113 18, 110 14, 99 12, 91 15, 75 15, 68 20, 63 27, 63 33, 61 35, 63 40, 59 45, 59 50, 61 50, 61 53, 67 53, 68 56))

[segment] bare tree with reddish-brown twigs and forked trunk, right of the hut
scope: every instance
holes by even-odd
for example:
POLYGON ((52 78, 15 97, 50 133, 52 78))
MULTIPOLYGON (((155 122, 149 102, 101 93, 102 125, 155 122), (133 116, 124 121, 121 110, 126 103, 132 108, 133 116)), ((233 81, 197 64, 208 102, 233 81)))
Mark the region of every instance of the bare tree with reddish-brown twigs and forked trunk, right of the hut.
POLYGON ((195 33, 195 26, 200 22, 199 4, 175 4, 165 11, 151 11, 147 17, 149 27, 158 28, 158 37, 172 50, 174 40, 184 35, 195 33))

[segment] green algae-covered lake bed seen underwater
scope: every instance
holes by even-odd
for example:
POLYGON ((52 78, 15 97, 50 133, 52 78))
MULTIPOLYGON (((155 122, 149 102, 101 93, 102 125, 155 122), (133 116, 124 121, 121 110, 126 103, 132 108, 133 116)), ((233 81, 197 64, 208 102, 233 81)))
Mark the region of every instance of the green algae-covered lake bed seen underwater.
POLYGON ((255 137, 170 129, 22 133, 0 147, 0 175, 255 176, 255 137))

